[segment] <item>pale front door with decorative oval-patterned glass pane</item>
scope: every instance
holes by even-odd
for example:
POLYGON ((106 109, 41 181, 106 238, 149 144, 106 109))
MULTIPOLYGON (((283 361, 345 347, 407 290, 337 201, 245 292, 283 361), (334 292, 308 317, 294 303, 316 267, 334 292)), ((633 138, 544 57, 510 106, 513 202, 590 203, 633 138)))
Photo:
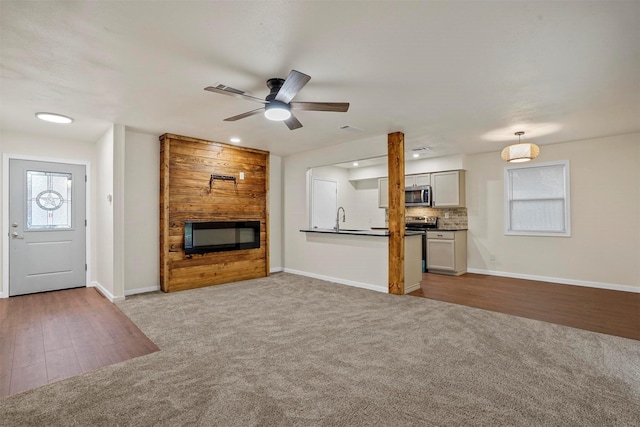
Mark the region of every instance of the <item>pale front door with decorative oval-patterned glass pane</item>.
POLYGON ((84 165, 9 160, 9 296, 86 286, 84 165))

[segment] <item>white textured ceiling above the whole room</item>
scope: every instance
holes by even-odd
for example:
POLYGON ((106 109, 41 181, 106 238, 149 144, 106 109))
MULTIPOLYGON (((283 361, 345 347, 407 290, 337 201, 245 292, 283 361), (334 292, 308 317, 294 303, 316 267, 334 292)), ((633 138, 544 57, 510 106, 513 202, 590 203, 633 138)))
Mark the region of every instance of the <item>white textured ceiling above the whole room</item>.
POLYGON ((0 2, 0 126, 96 141, 111 123, 287 155, 405 134, 428 156, 640 131, 640 1, 0 2), (260 104, 291 69, 311 81, 290 131, 260 104), (37 111, 75 118, 61 126, 37 111), (342 130, 342 126, 355 129, 342 130))

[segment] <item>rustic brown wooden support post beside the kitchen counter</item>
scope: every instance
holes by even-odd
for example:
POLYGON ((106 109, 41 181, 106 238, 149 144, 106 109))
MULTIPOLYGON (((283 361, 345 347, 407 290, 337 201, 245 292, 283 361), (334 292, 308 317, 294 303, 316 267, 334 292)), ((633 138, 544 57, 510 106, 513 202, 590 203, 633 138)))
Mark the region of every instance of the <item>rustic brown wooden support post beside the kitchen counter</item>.
POLYGON ((389 157, 389 293, 404 295, 404 134, 387 135, 389 157))

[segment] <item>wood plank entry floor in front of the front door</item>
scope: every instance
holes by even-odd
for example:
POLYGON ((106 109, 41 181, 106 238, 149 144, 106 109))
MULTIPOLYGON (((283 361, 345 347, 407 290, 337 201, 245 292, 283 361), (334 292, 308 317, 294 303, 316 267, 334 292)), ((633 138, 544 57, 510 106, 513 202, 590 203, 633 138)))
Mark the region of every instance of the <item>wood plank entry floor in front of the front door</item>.
POLYGON ((0 397, 154 351, 95 288, 0 299, 0 397))

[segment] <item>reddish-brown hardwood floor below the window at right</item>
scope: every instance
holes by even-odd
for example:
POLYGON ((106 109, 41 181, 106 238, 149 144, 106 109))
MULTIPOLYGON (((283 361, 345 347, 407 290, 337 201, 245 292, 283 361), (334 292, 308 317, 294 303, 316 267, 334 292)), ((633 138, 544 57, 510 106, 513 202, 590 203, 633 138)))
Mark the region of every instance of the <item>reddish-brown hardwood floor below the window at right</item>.
POLYGON ((640 294, 467 273, 424 273, 409 295, 640 340, 640 294))

